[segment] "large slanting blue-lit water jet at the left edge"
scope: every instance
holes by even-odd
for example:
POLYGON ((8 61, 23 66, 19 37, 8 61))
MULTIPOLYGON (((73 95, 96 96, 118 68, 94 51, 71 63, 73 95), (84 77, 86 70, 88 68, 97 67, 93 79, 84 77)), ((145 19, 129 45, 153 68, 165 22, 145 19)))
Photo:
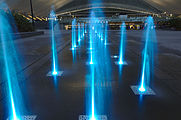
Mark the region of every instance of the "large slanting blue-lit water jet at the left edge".
POLYGON ((1 65, 3 72, 1 77, 3 78, 4 87, 7 90, 6 102, 9 117, 7 120, 25 120, 25 117, 32 117, 32 120, 36 119, 36 116, 23 116, 27 114, 23 96, 20 88, 20 81, 24 80, 24 74, 21 72, 22 59, 18 55, 17 47, 15 47, 15 37, 13 32, 16 31, 15 22, 8 6, 1 2, 0 5, 0 51, 1 51, 1 65), (21 60, 21 62, 20 62, 21 60))

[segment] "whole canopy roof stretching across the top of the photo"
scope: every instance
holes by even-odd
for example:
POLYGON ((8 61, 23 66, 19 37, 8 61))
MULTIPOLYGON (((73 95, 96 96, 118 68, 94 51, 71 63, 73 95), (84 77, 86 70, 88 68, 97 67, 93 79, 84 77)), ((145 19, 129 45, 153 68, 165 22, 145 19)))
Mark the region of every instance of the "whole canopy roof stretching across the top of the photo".
MULTIPOLYGON (((3 0, 0 0, 0 2, 3 0)), ((4 0, 11 9, 30 12, 29 0, 4 0)), ((78 9, 88 9, 94 0, 32 0, 36 15, 47 16, 54 6, 57 14, 78 9)), ((102 0, 102 7, 159 13, 166 11, 181 14, 181 0, 102 0)), ((100 7, 100 6, 99 6, 100 7)))

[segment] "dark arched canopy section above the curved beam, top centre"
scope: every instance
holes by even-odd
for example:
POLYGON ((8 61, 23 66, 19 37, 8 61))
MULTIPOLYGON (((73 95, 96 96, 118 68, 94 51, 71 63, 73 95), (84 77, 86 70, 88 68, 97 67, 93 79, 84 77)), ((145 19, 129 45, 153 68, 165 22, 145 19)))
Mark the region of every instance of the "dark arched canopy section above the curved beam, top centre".
POLYGON ((57 9, 57 14, 63 15, 68 13, 76 13, 95 8, 114 9, 119 11, 127 11, 134 13, 161 13, 161 10, 153 7, 143 0, 74 0, 63 7, 57 9))

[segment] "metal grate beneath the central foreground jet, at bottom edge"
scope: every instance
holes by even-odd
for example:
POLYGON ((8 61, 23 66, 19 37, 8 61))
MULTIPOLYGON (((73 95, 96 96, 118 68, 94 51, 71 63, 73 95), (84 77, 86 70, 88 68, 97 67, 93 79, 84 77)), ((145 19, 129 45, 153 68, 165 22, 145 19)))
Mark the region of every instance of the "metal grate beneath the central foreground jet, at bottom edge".
MULTIPOLYGON (((79 115, 79 120, 91 120, 91 116, 79 115)), ((96 120, 107 120, 107 116, 106 115, 98 115, 98 116, 96 116, 96 120)))

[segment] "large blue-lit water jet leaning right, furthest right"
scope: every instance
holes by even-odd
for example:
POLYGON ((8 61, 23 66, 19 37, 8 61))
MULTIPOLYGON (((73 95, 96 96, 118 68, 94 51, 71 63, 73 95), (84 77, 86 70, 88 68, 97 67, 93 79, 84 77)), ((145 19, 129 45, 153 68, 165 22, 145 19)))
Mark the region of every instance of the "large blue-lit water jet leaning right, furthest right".
POLYGON ((139 91, 145 92, 146 86, 149 86, 151 73, 153 73, 154 66, 154 54, 156 50, 156 33, 154 28, 154 20, 150 16, 147 18, 145 23, 145 46, 142 53, 142 72, 141 72, 141 83, 139 85, 139 91))

